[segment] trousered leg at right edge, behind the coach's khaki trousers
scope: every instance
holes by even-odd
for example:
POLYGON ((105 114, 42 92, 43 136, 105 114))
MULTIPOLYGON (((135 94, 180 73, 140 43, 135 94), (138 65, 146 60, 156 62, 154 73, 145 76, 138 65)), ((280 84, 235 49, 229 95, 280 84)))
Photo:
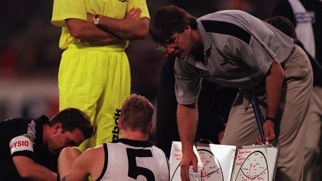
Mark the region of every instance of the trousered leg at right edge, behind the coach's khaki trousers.
POLYGON ((318 158, 320 155, 321 122, 322 122, 322 88, 314 87, 310 109, 306 117, 308 121, 305 141, 305 181, 317 181, 318 158))

